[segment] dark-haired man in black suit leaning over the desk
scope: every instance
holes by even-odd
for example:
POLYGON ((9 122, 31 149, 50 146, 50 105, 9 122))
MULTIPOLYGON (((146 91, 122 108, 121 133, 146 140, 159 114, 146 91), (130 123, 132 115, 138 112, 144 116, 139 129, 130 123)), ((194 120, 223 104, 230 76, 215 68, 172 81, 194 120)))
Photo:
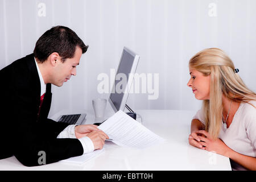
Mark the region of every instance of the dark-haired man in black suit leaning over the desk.
POLYGON ((36 42, 34 53, 0 71, 0 159, 14 155, 25 166, 39 166, 102 148, 108 138, 95 125, 69 125, 48 119, 51 84, 76 75, 88 46, 68 27, 56 26, 36 42))

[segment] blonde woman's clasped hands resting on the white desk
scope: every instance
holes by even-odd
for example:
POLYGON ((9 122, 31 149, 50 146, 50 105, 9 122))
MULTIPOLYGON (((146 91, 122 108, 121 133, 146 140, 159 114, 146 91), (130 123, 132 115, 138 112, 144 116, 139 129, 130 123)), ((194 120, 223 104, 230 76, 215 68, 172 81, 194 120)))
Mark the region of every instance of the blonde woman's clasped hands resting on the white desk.
POLYGON ((198 142, 201 146, 201 149, 216 152, 216 154, 224 155, 228 157, 228 151, 230 148, 219 138, 213 139, 210 137, 210 134, 205 130, 196 131, 197 137, 200 138, 198 142), (204 136, 200 136, 203 134, 204 136))

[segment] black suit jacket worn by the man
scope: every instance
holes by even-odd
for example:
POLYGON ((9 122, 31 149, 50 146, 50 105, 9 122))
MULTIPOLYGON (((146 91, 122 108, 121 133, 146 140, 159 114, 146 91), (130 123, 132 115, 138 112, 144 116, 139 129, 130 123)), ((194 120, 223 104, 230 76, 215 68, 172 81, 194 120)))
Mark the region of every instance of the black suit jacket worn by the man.
POLYGON ((51 84, 38 115, 40 79, 33 54, 3 68, 0 78, 0 159, 14 155, 25 166, 39 166, 44 156, 49 164, 83 154, 78 139, 56 138, 68 125, 47 118, 51 84))

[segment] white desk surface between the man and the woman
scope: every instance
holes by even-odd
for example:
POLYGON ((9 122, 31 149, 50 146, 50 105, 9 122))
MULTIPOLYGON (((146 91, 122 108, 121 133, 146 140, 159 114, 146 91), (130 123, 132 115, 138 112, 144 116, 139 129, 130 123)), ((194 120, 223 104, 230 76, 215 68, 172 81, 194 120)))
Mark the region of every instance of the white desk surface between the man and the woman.
MULTIPOLYGON (((0 160, 0 170, 231 170, 229 158, 189 145, 190 122, 195 111, 137 110, 137 113, 142 115, 144 126, 167 142, 137 150, 106 141, 105 151, 84 164, 57 162, 25 167, 13 156, 0 160)), ((59 114, 64 111, 52 118, 59 114)), ((93 113, 87 114, 85 123, 94 123, 93 113)))

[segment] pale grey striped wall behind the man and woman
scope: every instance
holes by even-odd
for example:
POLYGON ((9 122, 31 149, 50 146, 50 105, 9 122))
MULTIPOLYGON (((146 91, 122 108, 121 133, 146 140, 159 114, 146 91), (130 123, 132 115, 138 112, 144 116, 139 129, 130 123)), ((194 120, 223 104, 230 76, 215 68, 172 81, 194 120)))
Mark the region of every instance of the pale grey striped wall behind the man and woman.
POLYGON ((64 25, 89 49, 77 76, 52 87, 50 115, 61 109, 92 110, 93 98, 108 98, 97 92, 97 76, 117 69, 123 46, 141 55, 139 74, 159 73, 158 99, 130 94, 130 107, 198 109, 201 102, 186 85, 188 60, 204 48, 228 53, 256 91, 255 22, 255 0, 0 0, 0 68, 31 53, 43 32, 64 25))

